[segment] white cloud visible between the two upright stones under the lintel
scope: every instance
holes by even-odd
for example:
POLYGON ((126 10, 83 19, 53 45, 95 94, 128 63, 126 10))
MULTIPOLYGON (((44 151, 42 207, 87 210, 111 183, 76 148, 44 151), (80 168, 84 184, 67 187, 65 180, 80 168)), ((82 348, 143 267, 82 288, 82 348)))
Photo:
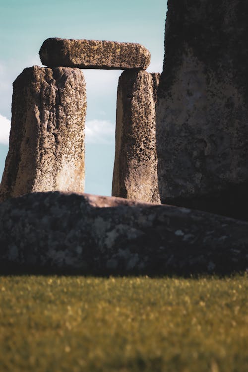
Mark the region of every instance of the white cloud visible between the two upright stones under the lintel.
POLYGON ((90 120, 85 125, 86 143, 110 144, 115 142, 115 125, 108 120, 90 120))

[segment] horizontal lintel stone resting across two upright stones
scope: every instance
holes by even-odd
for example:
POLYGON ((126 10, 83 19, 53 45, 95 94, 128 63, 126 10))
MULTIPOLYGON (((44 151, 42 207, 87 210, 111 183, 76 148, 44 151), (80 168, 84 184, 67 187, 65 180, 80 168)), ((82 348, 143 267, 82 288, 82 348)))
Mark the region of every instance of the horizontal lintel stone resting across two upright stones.
POLYGON ((50 38, 42 44, 40 58, 50 67, 145 70, 151 56, 137 43, 50 38))

